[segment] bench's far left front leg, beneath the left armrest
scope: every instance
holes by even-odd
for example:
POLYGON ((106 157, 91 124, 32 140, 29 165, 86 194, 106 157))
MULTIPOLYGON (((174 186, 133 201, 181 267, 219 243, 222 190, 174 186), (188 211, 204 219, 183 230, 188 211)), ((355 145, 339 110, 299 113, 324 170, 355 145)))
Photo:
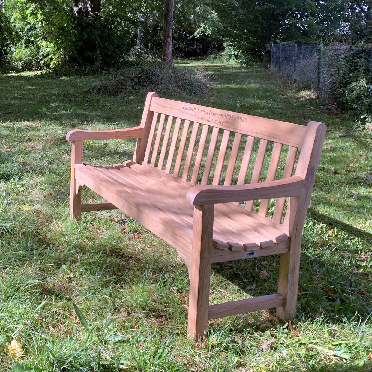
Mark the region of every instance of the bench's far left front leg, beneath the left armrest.
POLYGON ((80 221, 81 186, 77 185, 75 164, 83 163, 83 141, 71 142, 70 218, 80 221))

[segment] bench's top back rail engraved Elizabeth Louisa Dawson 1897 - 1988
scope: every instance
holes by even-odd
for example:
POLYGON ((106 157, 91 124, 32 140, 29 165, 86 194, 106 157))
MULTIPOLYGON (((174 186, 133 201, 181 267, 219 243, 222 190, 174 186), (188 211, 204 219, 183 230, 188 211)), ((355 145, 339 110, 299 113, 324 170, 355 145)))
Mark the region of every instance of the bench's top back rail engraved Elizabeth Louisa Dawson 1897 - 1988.
POLYGON ((150 111, 300 148, 306 132, 304 125, 160 97, 152 97, 150 111))

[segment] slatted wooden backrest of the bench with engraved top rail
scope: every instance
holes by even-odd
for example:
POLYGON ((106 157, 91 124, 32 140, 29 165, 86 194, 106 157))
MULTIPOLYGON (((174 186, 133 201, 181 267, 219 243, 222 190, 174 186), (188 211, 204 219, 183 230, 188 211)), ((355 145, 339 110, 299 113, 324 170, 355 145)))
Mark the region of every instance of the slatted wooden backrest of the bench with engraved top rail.
MULTIPOLYGON (((296 170, 309 178, 311 193, 323 145, 321 138, 313 154, 318 124, 292 124, 149 93, 141 122, 144 136, 134 160, 192 185, 244 185, 287 178, 296 170)), ((280 198, 248 201, 245 208, 281 223, 285 205, 280 198)))

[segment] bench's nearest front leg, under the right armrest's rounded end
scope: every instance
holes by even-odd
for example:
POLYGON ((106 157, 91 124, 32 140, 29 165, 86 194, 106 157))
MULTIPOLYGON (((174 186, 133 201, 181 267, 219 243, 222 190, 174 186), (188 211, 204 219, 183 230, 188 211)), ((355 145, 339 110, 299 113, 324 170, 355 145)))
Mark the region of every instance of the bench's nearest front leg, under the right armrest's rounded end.
POLYGON ((195 206, 187 335, 202 339, 208 328, 214 205, 195 206))

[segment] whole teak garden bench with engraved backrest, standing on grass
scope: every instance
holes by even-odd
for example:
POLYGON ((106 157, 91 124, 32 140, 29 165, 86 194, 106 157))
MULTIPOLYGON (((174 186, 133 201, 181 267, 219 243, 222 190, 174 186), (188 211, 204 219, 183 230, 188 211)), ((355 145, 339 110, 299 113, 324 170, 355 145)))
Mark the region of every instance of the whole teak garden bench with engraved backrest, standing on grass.
POLYGON ((74 129, 70 217, 119 208, 189 269, 188 335, 208 320, 276 308, 296 314, 301 237, 326 126, 265 119, 148 93, 140 126, 74 129), (137 138, 133 160, 83 163, 84 140, 137 138), (81 205, 81 186, 108 203, 81 205), (280 254, 278 292, 209 305, 211 264, 280 254))

